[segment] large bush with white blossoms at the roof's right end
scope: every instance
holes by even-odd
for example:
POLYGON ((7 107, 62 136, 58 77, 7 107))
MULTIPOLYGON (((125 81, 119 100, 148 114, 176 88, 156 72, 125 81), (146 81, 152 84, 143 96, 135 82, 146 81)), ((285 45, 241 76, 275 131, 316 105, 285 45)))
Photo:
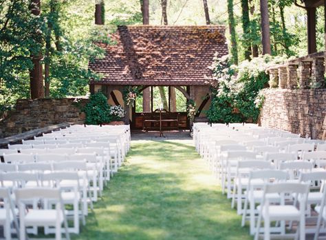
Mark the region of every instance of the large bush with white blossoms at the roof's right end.
POLYGON ((265 68, 279 59, 270 56, 243 61, 231 66, 228 57, 216 58, 213 63, 212 103, 207 117, 213 123, 257 122, 263 99, 259 90, 268 86, 265 68))

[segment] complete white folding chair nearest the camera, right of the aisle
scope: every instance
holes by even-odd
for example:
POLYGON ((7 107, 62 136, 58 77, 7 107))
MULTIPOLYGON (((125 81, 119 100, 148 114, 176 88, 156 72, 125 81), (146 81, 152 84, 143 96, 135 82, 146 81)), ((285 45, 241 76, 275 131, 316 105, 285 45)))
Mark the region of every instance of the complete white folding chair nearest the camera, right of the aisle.
MULTIPOLYGON (((263 201, 259 209, 259 217, 255 240, 258 240, 261 220, 264 221, 264 239, 270 239, 270 223, 272 221, 281 221, 281 226, 285 227, 285 221, 298 221, 297 233, 294 236, 299 236, 301 240, 305 239, 305 203, 309 185, 303 183, 272 183, 266 184, 264 187, 263 201), (268 199, 268 194, 280 194, 280 205, 271 205, 268 199), (297 194, 299 209, 294 205, 285 205, 286 194, 297 194)), ((285 233, 285 228, 281 229, 279 237, 285 237, 290 234, 285 233)), ((294 237, 292 234, 292 237, 294 237)))

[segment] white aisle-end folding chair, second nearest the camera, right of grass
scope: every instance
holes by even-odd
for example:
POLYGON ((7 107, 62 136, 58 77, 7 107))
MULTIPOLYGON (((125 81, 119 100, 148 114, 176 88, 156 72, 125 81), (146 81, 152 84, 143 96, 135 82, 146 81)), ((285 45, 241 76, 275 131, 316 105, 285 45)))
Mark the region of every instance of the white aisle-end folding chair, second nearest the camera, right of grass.
MULTIPOLYGON (((248 218, 248 203, 249 203, 249 219, 250 219, 250 234, 255 232, 255 219, 258 211, 255 210, 257 203, 261 204, 263 201, 263 186, 267 183, 277 183, 279 181, 286 181, 288 177, 287 172, 281 170, 253 170, 249 172, 248 185, 245 192, 245 203, 243 207, 241 226, 245 226, 248 218), (254 181, 263 181, 263 184, 255 184, 254 181)), ((268 194, 269 201, 272 203, 279 203, 281 197, 277 193, 268 194)))

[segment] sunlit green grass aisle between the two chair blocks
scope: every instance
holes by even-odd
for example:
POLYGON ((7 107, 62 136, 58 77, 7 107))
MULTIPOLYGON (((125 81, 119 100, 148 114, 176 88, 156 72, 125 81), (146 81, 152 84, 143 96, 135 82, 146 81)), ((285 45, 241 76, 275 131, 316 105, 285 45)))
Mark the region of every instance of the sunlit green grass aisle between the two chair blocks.
POLYGON ((72 239, 252 239, 190 141, 135 141, 72 239))

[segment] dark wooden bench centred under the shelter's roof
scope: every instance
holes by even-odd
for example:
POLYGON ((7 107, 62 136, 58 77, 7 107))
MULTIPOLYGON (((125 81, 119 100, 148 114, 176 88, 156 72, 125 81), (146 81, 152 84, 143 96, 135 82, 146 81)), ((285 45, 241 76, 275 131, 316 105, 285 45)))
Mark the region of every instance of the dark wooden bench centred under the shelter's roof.
MULTIPOLYGON (((179 129, 179 113, 178 112, 164 112, 162 117, 162 131, 164 130, 178 130, 179 129)), ((144 113, 143 130, 160 130, 160 112, 146 112, 144 113)))

